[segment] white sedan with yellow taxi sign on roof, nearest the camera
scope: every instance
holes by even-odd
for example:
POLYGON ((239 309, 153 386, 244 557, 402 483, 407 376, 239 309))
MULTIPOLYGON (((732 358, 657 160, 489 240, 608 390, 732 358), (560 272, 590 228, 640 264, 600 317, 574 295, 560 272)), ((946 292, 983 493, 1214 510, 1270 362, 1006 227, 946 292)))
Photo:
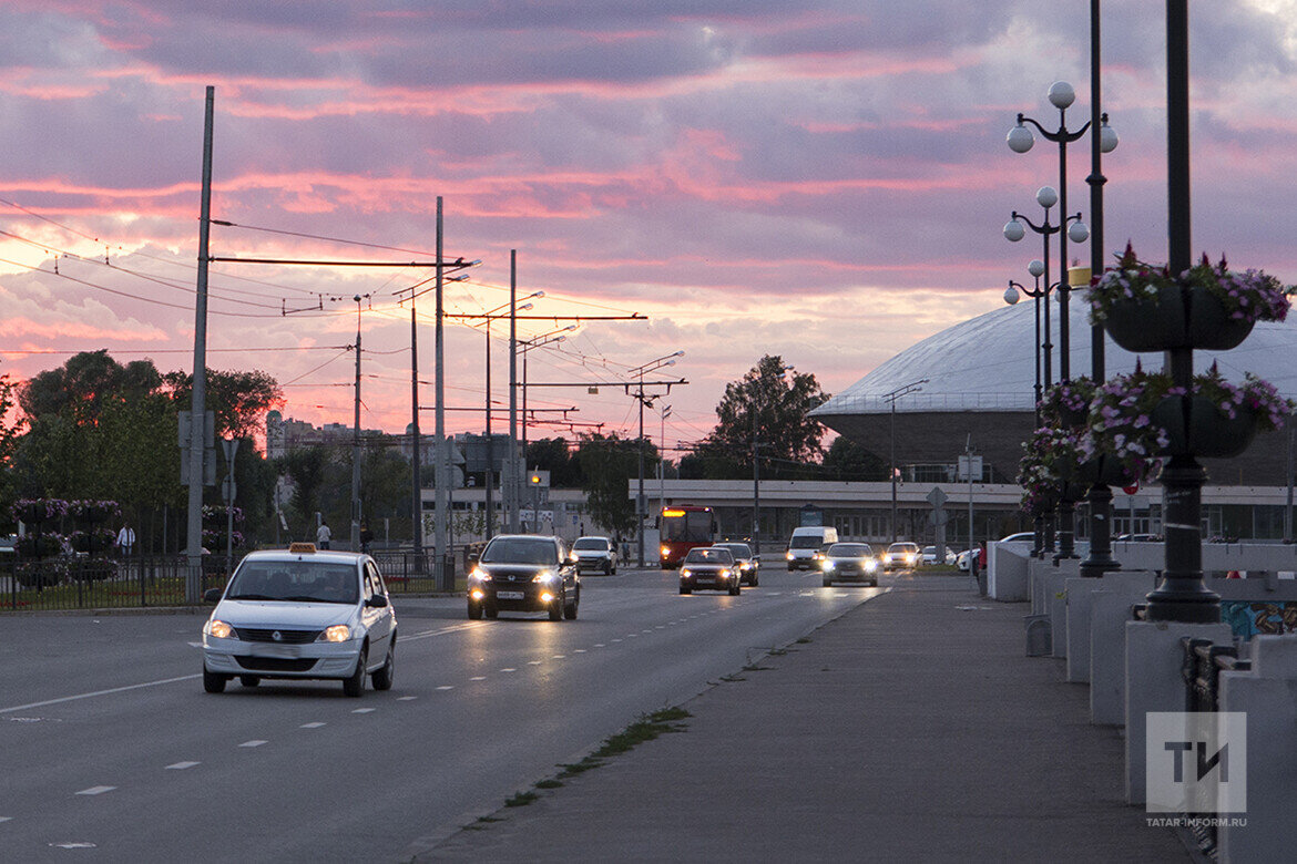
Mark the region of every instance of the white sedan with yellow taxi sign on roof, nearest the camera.
POLYGON ((202 626, 202 688, 237 677, 336 679, 361 696, 392 688, 397 617, 374 558, 323 552, 314 543, 250 552, 230 583, 208 591, 217 608, 202 626))

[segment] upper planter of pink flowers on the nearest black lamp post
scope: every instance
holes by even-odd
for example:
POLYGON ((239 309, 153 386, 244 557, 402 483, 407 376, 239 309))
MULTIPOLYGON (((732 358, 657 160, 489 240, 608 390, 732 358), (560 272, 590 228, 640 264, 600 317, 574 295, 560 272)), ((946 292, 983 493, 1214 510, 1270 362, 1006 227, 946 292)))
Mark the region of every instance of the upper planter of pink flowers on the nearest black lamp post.
POLYGON ((1089 289, 1089 320, 1127 351, 1228 351, 1257 321, 1283 321, 1292 291, 1261 271, 1230 271, 1223 258, 1213 266, 1206 255, 1172 276, 1140 262, 1127 244, 1117 267, 1089 289))

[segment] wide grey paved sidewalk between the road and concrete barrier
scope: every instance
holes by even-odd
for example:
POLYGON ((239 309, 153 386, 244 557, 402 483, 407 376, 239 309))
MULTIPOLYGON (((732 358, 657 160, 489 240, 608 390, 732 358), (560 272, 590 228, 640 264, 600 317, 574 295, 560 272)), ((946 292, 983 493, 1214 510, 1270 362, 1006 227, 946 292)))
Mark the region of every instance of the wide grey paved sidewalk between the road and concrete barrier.
POLYGON ((901 576, 686 702, 685 732, 419 860, 1188 860, 1124 803, 1088 690, 1023 655, 1025 609, 901 576))

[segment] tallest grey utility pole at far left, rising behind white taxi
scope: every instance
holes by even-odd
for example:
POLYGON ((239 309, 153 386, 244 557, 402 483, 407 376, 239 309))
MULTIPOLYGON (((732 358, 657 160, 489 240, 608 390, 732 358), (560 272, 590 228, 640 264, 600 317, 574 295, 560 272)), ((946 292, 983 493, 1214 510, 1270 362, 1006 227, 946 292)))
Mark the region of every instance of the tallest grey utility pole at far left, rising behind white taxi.
POLYGON ((198 282, 193 312, 193 389, 189 405, 189 513, 185 554, 188 571, 184 598, 198 602, 202 595, 202 453, 206 446, 208 395, 208 236, 211 229, 211 132, 217 88, 208 85, 202 123, 202 201, 198 210, 198 282))

